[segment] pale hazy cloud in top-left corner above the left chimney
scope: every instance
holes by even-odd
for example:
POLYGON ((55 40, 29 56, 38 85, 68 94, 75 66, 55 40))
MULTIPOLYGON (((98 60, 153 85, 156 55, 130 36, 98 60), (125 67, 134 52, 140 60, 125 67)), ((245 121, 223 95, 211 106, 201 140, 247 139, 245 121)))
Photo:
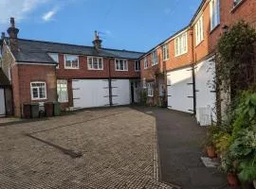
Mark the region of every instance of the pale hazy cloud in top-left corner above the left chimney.
POLYGON ((0 0, 0 24, 7 24, 9 17, 22 20, 27 14, 49 0, 0 0))

